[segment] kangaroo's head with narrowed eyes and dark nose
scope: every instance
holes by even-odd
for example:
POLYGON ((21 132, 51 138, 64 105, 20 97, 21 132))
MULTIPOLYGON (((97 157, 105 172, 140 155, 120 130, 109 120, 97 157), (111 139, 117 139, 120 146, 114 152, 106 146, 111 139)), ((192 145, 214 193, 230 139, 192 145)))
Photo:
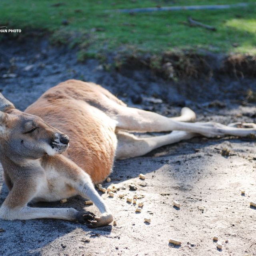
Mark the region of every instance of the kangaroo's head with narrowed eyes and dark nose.
POLYGON ((17 110, 0 93, 0 154, 15 160, 53 156, 68 148, 69 138, 38 116, 17 110))

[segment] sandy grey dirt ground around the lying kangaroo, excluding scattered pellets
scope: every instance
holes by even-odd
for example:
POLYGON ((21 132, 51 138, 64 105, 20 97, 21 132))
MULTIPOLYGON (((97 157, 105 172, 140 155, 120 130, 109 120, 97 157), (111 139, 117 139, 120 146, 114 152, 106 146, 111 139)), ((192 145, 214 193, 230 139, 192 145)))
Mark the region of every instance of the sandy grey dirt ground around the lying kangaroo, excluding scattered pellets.
MULTIPOLYGON (((76 78, 101 84, 130 106, 166 116, 178 115, 186 105, 197 113, 198 120, 255 122, 256 106, 236 102, 243 99, 248 88, 256 89, 253 80, 215 81, 206 92, 200 92, 198 101, 192 93, 188 97, 182 92, 184 85, 179 90, 148 70, 109 73, 96 60, 77 63, 75 51, 54 48, 45 39, 8 41, 1 46, 0 90, 21 110, 48 88, 76 78), (15 77, 6 78, 10 73, 15 77), (230 88, 230 84, 232 93, 225 98, 223 87, 230 88), (152 98, 156 95, 157 100, 152 98), (216 99, 222 104, 212 103, 216 99)), ((113 183, 120 190, 114 198, 100 194, 117 226, 88 229, 62 220, 0 220, 0 255, 256 255, 256 208, 249 204, 256 201, 255 169, 254 140, 235 137, 193 138, 143 157, 116 161, 112 181, 103 185, 113 183), (222 156, 224 148, 230 150, 229 156, 222 156), (146 175, 145 181, 138 178, 140 173, 146 175), (130 191, 130 184, 137 190, 130 191), (245 189, 245 195, 241 195, 241 189, 245 189), (138 201, 144 202, 142 212, 135 213, 136 206, 127 203, 126 197, 118 198, 118 194, 137 194, 138 201), (180 202, 180 209, 172 205, 173 200, 180 202), (145 223, 144 218, 151 218, 151 223, 145 223), (222 250, 216 248, 214 235, 222 242, 222 250), (169 244, 170 238, 182 245, 169 244)), ((1 178, 0 204, 7 194, 1 178)), ((98 213, 95 206, 85 206, 78 196, 65 204, 38 205, 98 213)))

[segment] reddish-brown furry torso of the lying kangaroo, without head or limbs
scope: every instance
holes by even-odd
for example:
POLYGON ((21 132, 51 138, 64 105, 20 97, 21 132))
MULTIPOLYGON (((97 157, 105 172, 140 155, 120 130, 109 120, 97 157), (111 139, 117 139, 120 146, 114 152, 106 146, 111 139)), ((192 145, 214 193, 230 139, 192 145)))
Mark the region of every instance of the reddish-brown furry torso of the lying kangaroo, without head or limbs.
POLYGON ((85 170, 94 183, 110 174, 117 144, 115 123, 102 111, 106 97, 125 106, 101 86, 68 80, 25 110, 69 136, 70 146, 63 154, 85 170))

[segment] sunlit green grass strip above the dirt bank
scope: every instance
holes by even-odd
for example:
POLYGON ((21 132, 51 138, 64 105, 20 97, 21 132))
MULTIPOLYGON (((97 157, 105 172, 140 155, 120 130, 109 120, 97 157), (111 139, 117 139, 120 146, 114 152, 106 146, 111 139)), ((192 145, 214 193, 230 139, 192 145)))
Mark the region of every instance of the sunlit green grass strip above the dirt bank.
POLYGON ((0 26, 47 30, 52 41, 79 45, 79 58, 102 52, 150 52, 205 49, 256 54, 256 4, 251 0, 1 0, 0 26), (64 5, 54 7, 52 4, 64 5), (248 8, 124 14, 118 8, 247 2, 248 8), (110 10, 110 11, 106 11, 110 10), (216 32, 183 24, 188 16, 215 26, 216 32), (68 20, 67 26, 62 20, 68 20), (234 47, 234 44, 237 47, 234 47))

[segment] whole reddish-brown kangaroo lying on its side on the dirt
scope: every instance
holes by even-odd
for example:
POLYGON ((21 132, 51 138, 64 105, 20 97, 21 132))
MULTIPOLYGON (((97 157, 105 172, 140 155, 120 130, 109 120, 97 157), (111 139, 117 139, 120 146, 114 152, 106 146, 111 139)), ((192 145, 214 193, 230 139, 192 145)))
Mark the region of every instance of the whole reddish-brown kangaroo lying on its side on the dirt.
POLYGON ((254 124, 185 123, 195 120, 196 115, 189 108, 181 113, 167 118, 129 108, 101 86, 78 80, 51 88, 25 112, 0 94, 0 162, 10 190, 0 218, 57 218, 84 222, 92 228, 103 226, 112 222, 113 216, 93 184, 108 177, 114 158, 142 156, 198 134, 256 134, 254 124), (172 132, 136 138, 127 131, 172 132), (29 202, 50 202, 77 194, 92 200, 101 215, 74 208, 27 206, 29 202))

